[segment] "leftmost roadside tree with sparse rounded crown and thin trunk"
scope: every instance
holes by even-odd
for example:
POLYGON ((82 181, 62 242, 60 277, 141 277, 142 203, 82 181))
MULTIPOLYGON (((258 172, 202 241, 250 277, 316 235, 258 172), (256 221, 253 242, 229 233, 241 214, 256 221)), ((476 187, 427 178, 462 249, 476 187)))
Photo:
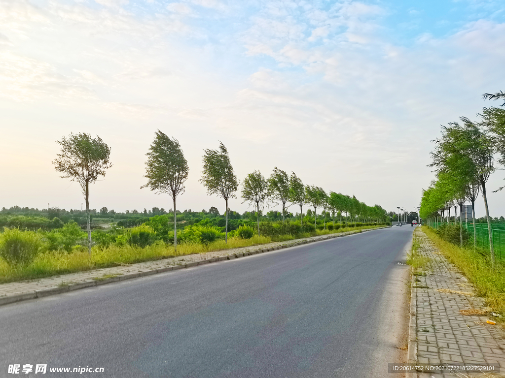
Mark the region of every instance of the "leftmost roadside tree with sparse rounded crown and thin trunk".
POLYGON ((106 169, 112 167, 109 161, 111 148, 96 136, 79 133, 70 134, 57 141, 61 153, 53 161, 55 169, 62 173, 62 178, 70 178, 81 186, 86 203, 86 222, 88 231, 88 254, 91 256, 91 222, 89 220, 89 184, 96 181, 98 176, 105 176, 106 169))

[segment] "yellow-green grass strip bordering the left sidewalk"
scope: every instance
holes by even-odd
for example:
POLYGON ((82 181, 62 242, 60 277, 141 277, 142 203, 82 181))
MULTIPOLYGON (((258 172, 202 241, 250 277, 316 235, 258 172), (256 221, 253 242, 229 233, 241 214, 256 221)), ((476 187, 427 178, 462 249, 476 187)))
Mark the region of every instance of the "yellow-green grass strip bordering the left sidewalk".
MULTIPOLYGON (((317 234, 326 235, 330 233, 358 231, 369 228, 376 228, 376 226, 340 228, 333 231, 317 230, 317 234)), ((286 241, 304 237, 307 238, 310 236, 311 235, 309 234, 296 235, 296 237, 292 235, 282 235, 271 238, 255 235, 250 239, 231 237, 228 239, 228 243, 225 243, 224 240, 217 240, 207 245, 179 244, 177 245, 177 251, 175 251, 173 245, 166 245, 161 241, 146 246, 145 248, 134 245, 112 245, 108 248, 93 246, 91 257, 88 256, 87 248, 76 250, 70 254, 57 251, 46 251, 45 253, 40 254, 33 263, 28 266, 9 265, 5 260, 0 259, 0 283, 39 279, 61 274, 160 260, 170 257, 200 254, 215 250, 260 245, 273 241, 286 241)))

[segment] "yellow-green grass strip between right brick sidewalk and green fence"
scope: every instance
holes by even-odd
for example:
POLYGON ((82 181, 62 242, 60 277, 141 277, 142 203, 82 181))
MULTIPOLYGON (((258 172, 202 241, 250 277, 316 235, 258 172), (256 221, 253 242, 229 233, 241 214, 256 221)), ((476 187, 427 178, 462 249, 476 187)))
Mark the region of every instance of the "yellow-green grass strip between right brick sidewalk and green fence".
POLYGON ((459 245, 441 239, 427 226, 422 227, 425 234, 431 239, 442 255, 454 264, 475 286, 477 295, 483 297, 486 305, 494 312, 501 314, 497 322, 503 323, 505 314, 505 264, 496 261, 496 268, 491 267, 489 251, 473 245, 461 248, 459 245))

